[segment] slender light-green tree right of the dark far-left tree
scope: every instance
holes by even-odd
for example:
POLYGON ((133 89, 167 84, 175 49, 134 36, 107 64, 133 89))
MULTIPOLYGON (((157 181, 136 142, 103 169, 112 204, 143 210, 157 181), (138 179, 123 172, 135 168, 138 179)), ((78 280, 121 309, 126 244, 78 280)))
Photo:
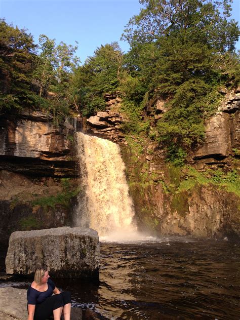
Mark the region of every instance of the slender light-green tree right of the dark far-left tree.
POLYGON ((57 46, 55 40, 49 39, 47 35, 39 36, 39 54, 34 78, 40 88, 40 107, 52 112, 56 123, 68 114, 71 106, 77 109, 71 94, 73 71, 79 63, 75 56, 76 50, 77 46, 63 42, 57 46))

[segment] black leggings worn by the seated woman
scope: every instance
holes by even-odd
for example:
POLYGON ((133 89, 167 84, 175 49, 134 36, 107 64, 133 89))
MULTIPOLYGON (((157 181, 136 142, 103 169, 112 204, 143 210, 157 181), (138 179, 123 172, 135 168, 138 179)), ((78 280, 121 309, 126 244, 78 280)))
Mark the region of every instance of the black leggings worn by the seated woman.
POLYGON ((63 307, 67 303, 71 303, 71 294, 69 291, 51 296, 44 302, 36 304, 34 320, 48 319, 53 315, 53 310, 63 307))

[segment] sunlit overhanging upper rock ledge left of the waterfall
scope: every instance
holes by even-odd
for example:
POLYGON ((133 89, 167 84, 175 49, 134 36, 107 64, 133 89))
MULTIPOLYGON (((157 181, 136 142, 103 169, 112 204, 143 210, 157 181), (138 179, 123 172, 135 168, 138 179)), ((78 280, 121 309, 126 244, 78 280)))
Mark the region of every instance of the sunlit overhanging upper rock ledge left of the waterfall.
POLYGON ((0 119, 0 169, 42 176, 74 176, 73 128, 56 128, 40 111, 0 119))

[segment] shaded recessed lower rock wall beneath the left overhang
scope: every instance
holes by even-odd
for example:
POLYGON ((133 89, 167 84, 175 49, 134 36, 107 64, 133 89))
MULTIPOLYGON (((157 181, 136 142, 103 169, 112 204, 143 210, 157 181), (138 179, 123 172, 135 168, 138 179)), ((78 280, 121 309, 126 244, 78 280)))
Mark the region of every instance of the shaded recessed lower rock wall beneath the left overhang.
POLYGON ((67 179, 67 191, 64 181, 65 179, 33 178, 15 172, 0 171, 0 248, 6 248, 7 252, 10 234, 16 230, 71 225, 72 208, 76 199, 72 197, 59 204, 58 197, 64 197, 66 192, 70 191, 69 188, 76 189, 78 181, 67 179))

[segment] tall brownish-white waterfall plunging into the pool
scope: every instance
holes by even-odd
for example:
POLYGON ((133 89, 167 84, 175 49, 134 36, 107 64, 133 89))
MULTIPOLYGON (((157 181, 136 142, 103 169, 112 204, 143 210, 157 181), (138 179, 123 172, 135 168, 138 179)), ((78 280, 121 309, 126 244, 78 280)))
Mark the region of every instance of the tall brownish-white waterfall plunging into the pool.
POLYGON ((75 224, 97 230, 100 239, 131 238, 137 228, 119 146, 81 132, 76 135, 84 195, 78 199, 75 224))

